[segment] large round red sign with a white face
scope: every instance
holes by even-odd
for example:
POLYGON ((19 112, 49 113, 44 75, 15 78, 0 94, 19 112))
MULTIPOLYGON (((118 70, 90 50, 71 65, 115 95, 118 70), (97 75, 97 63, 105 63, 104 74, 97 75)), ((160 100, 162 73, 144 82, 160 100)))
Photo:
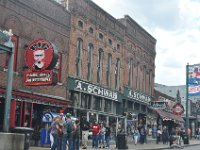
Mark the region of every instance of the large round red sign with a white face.
POLYGON ((56 47, 45 40, 36 40, 26 49, 26 64, 33 71, 53 69, 58 60, 56 47))

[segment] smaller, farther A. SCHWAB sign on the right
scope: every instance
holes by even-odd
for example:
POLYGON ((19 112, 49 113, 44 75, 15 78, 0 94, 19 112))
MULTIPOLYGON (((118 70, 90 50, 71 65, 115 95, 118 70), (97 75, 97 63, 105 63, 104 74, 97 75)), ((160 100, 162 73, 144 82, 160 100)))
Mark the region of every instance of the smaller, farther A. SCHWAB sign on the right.
POLYGON ((143 93, 139 93, 137 91, 133 91, 128 89, 127 87, 124 88, 124 95, 130 99, 137 100, 146 104, 149 104, 149 102, 151 101, 151 97, 147 96, 143 93))

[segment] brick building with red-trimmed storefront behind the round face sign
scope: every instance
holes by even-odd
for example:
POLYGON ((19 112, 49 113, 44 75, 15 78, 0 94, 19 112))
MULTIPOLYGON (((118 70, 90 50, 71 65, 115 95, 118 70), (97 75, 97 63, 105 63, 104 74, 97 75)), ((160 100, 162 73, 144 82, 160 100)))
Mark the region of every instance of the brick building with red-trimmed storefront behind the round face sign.
MULTIPOLYGON (((67 50, 70 37, 70 14, 55 1, 0 1, 0 29, 13 32, 14 75, 10 125, 40 124, 42 113, 67 107, 67 50), (50 11, 51 10, 51 11, 50 11), (54 85, 27 86, 24 72, 30 70, 25 58, 31 42, 43 39, 58 49, 59 65, 53 69, 58 80, 54 85)), ((3 125, 7 77, 7 54, 0 54, 0 125, 3 125)))

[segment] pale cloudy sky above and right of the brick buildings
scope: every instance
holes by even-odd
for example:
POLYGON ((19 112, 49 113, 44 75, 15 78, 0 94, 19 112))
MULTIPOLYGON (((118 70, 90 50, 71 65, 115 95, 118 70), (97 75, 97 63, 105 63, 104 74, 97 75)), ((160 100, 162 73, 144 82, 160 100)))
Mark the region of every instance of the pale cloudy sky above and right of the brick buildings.
POLYGON ((128 14, 157 40, 156 83, 186 83, 186 64, 200 63, 200 0, 93 2, 115 18, 128 14))

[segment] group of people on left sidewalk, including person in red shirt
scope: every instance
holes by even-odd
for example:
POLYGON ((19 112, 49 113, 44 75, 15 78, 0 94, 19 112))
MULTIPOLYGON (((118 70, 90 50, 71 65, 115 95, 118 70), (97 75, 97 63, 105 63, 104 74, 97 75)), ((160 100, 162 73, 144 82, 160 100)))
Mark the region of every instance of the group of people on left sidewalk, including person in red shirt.
POLYGON ((109 148, 111 130, 108 124, 89 123, 85 116, 81 120, 63 113, 54 118, 50 129, 51 150, 87 149, 88 137, 92 136, 93 148, 109 148))

